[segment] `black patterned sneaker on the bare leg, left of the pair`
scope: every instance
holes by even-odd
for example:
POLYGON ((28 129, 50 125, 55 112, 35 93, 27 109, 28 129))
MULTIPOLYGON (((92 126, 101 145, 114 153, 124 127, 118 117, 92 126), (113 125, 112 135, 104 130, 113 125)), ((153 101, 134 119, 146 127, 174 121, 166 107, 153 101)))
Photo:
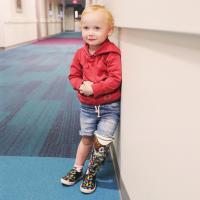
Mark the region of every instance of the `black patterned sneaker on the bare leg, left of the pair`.
POLYGON ((60 179, 60 182, 64 185, 74 185, 83 176, 83 172, 78 172, 75 168, 71 169, 66 176, 60 179))

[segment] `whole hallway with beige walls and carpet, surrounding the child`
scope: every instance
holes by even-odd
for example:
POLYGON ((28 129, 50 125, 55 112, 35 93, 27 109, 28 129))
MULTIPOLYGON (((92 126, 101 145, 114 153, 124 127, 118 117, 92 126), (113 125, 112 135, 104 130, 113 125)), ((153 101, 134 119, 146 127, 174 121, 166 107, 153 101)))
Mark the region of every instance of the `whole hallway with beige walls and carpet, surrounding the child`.
POLYGON ((199 200, 199 8, 189 0, 0 0, 0 200, 199 200), (59 182, 80 140, 67 74, 93 4, 114 18, 121 110, 112 159, 98 190, 83 196, 80 184, 59 182))

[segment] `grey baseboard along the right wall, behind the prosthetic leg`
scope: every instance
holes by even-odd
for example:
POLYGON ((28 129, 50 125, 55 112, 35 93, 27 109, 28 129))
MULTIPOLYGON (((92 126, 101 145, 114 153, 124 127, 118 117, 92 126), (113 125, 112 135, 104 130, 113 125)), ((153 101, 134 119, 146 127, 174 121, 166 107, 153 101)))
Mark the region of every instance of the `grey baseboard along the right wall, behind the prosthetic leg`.
POLYGON ((125 188, 124 182, 121 178, 121 174, 120 174, 120 168, 117 162, 117 156, 116 156, 116 152, 115 152, 115 148, 113 145, 111 145, 111 156, 113 159, 113 165, 114 165, 114 169, 115 169, 115 174, 116 174, 116 178, 117 178, 117 183, 119 186, 119 190, 120 190, 120 196, 121 196, 121 200, 131 200, 128 192, 125 188))

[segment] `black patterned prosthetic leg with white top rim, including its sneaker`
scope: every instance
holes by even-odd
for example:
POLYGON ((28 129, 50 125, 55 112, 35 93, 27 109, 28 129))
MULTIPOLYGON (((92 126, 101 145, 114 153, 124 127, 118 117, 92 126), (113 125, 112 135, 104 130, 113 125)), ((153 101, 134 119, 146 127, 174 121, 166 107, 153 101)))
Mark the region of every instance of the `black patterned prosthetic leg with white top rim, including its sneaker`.
POLYGON ((90 157, 90 162, 80 186, 83 193, 91 193, 96 189, 96 173, 106 159, 112 138, 107 138, 95 133, 94 147, 90 157))

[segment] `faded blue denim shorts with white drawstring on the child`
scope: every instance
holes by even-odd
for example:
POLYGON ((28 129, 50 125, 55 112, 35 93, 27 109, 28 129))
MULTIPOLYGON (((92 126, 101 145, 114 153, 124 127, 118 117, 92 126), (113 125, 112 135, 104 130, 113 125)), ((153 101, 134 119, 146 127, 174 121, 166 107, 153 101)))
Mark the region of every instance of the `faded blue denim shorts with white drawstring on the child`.
POLYGON ((80 110, 80 135, 99 135, 114 138, 115 130, 120 120, 120 101, 100 106, 81 104, 80 110))

